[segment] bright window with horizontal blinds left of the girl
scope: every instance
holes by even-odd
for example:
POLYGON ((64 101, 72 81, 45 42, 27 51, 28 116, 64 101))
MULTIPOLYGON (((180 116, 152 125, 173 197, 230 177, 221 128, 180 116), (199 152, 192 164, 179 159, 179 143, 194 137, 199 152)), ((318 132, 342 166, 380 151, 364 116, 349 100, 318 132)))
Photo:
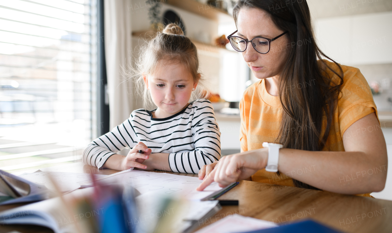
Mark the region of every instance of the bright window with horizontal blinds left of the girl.
POLYGON ((95 135, 96 1, 0 0, 0 169, 79 160, 95 135))

